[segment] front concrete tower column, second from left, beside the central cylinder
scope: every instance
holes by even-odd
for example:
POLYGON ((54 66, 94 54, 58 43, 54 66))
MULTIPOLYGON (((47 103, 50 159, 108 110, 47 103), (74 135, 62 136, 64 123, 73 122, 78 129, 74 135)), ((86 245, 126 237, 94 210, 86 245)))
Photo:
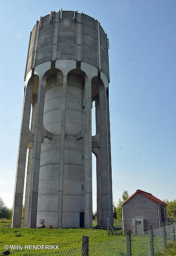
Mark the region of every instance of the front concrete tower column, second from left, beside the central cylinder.
POLYGON ((32 156, 31 186, 29 196, 28 227, 36 227, 37 204, 38 204, 38 181, 40 170, 40 151, 43 130, 43 108, 45 99, 46 76, 39 78, 38 103, 35 120, 34 146, 32 156))

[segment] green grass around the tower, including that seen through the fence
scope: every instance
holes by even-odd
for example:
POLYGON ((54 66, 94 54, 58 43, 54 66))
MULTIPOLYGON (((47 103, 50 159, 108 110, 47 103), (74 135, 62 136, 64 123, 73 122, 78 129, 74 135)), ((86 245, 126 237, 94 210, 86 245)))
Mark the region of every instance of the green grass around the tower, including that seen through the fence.
MULTIPOLYGON (((107 235, 107 230, 101 229, 28 229, 28 228, 11 228, 11 223, 0 223, 0 254, 4 250, 10 250, 13 256, 32 256, 41 255, 43 253, 54 253, 56 251, 80 247, 83 235, 89 236, 89 249, 91 255, 96 256, 113 256, 126 255, 126 237, 107 235), (6 226, 6 227, 2 227, 6 226), (110 241, 110 242, 108 242, 110 241), (98 244, 99 242, 103 242, 98 244), (109 245, 106 245, 106 244, 109 245), (5 245, 9 249, 4 248, 5 245), (31 249, 30 246, 42 246, 40 250, 31 249), (12 247, 13 246, 13 247, 12 247), (45 246, 50 246, 47 249, 45 246), (53 249, 51 249, 53 246, 53 249), (119 254, 120 253, 120 254, 119 254)), ((141 256, 148 255, 150 250, 149 237, 131 236, 132 255, 141 256)), ((156 244, 154 244, 156 246, 156 244)), ((80 249, 81 250, 81 249, 80 249)), ((64 251, 65 252, 65 251, 64 251)), ((77 255, 73 254, 73 255, 77 255)), ((65 255, 65 254, 64 254, 65 255)), ((67 255, 67 254, 66 254, 67 255)), ((71 254, 68 254, 71 255, 71 254)), ((167 244, 167 249, 157 256, 176 256, 176 243, 167 244)))

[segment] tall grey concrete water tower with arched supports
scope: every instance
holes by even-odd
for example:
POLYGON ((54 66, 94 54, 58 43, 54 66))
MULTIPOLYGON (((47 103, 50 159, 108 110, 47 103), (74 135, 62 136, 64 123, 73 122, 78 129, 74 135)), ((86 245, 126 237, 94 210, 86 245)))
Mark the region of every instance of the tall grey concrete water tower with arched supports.
POLYGON ((50 12, 32 29, 12 227, 21 224, 27 149, 24 227, 92 227, 92 152, 98 226, 113 224, 108 48, 98 20, 84 13, 50 12))

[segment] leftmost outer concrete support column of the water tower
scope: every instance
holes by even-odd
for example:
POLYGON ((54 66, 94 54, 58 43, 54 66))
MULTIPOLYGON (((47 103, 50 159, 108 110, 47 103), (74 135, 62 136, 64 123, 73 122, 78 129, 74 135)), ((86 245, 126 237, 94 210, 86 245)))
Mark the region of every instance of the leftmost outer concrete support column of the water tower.
POLYGON ((20 130, 20 142, 17 157, 17 172, 14 190, 14 205, 12 227, 21 227, 21 213, 23 205, 23 189, 24 189, 24 175, 26 166, 26 151, 29 143, 29 118, 32 102, 33 78, 31 78, 26 86, 23 103, 23 114, 20 130))

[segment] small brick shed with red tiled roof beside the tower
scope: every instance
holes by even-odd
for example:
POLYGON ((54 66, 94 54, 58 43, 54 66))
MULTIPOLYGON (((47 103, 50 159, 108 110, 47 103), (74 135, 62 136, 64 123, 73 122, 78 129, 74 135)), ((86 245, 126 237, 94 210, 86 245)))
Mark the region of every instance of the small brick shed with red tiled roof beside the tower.
POLYGON ((135 230, 135 233, 140 233, 139 228, 142 227, 140 226, 142 223, 144 224, 143 231, 148 230, 149 224, 153 229, 167 225, 167 204, 148 192, 137 189, 121 204, 121 207, 124 234, 128 228, 131 232, 135 230))

